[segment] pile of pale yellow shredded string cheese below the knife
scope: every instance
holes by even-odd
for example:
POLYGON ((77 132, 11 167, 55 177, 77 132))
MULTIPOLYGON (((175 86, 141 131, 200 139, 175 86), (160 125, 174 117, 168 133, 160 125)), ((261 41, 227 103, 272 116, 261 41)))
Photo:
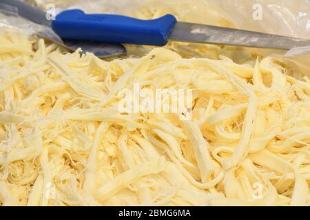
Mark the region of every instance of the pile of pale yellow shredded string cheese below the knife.
POLYGON ((309 205, 310 81, 156 48, 103 61, 0 35, 3 206, 309 205), (120 113, 134 83, 193 89, 192 119, 120 113))

